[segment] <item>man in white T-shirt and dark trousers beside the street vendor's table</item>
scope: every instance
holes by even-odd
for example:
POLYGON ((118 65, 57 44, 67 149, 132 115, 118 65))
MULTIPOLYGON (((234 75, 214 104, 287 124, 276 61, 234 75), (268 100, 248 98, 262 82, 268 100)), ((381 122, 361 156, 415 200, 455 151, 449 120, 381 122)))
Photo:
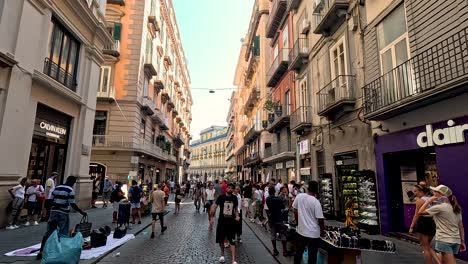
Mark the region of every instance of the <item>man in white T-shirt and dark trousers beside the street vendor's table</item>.
POLYGON ((320 237, 325 230, 322 205, 315 198, 318 193, 318 182, 311 181, 307 193, 300 193, 294 199, 294 217, 297 226, 297 248, 294 264, 300 264, 304 249, 307 246, 309 264, 316 263, 320 237))

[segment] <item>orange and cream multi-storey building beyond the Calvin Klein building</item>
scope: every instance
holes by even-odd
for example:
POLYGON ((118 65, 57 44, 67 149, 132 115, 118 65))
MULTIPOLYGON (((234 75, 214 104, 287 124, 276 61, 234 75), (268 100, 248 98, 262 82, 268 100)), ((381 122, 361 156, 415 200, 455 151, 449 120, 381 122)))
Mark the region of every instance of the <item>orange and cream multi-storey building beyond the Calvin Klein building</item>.
POLYGON ((107 1, 106 19, 89 173, 182 182, 192 97, 172 1, 107 1))

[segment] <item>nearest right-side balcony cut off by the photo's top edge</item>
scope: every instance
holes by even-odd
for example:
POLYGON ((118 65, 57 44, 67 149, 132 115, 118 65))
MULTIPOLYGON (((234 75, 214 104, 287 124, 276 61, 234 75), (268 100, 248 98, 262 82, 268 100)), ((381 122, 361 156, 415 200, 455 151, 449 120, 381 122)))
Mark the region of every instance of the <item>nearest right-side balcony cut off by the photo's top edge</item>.
POLYGON ((314 10, 314 33, 330 35, 346 20, 349 0, 320 0, 314 10))

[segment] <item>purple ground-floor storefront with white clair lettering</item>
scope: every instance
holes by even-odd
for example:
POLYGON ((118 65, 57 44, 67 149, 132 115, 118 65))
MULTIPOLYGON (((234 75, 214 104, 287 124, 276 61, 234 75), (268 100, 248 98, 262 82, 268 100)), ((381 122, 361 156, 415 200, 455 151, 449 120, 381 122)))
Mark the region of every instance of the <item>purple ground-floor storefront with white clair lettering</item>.
POLYGON ((375 157, 382 233, 408 232, 415 209, 409 191, 421 180, 453 190, 466 226, 468 115, 376 137, 375 157))

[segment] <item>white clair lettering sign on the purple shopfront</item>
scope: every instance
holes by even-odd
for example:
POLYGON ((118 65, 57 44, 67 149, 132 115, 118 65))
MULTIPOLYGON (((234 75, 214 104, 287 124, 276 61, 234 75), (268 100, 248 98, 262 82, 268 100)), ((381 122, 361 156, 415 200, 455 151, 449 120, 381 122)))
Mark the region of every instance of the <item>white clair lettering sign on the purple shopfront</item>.
POLYGON ((457 125, 448 120, 446 128, 434 130, 432 125, 426 125, 426 131, 419 133, 416 141, 420 148, 460 144, 465 142, 465 132, 468 132, 468 124, 457 125))

